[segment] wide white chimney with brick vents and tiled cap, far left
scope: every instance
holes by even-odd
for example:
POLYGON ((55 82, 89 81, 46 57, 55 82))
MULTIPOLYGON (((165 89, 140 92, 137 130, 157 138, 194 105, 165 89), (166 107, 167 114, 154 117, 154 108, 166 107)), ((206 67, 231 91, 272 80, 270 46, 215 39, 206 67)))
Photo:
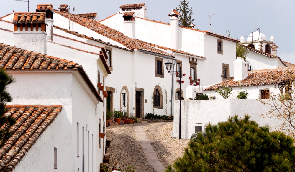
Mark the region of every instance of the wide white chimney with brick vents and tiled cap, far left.
POLYGON ((46 54, 46 13, 14 13, 14 46, 46 54))

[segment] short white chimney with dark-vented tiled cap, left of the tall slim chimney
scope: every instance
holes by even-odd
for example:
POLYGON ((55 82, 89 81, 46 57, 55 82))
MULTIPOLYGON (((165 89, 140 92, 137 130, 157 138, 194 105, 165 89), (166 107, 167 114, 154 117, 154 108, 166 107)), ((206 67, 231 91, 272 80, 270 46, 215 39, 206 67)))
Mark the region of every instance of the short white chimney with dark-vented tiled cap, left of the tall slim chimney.
POLYGON ((135 38, 135 14, 134 14, 134 12, 124 13, 123 18, 124 18, 123 34, 134 39, 135 38))

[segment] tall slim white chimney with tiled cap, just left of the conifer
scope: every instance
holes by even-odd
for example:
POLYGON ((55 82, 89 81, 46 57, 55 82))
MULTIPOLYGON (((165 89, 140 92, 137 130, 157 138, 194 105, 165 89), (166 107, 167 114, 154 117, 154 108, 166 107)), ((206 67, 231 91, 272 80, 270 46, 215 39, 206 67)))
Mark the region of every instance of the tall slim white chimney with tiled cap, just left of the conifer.
POLYGON ((178 50, 179 44, 179 26, 178 13, 175 9, 168 14, 170 16, 170 48, 178 50))

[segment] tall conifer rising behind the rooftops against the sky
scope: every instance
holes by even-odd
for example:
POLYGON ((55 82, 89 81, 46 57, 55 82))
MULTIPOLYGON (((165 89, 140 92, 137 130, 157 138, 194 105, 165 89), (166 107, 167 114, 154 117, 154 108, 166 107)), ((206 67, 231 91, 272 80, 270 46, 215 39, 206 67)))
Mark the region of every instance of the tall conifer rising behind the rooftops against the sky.
MULTIPOLYGON (((189 2, 186 0, 180 1, 180 5, 178 8, 176 7, 176 11, 178 11, 181 16, 179 16, 178 25, 183 27, 191 27, 191 23, 195 21, 192 19, 193 10, 189 9, 189 2)), ((199 29, 199 28, 198 28, 199 29)))

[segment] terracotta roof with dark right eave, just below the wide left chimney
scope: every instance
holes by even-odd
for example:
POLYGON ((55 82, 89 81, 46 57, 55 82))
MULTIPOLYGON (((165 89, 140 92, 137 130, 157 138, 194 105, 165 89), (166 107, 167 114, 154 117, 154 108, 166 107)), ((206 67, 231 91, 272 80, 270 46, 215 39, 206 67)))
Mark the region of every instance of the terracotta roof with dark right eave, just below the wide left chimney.
POLYGON ((103 101, 83 67, 72 61, 0 43, 0 68, 7 70, 77 69, 99 101, 103 101))

